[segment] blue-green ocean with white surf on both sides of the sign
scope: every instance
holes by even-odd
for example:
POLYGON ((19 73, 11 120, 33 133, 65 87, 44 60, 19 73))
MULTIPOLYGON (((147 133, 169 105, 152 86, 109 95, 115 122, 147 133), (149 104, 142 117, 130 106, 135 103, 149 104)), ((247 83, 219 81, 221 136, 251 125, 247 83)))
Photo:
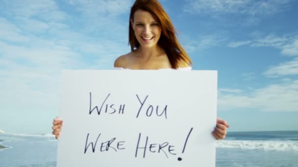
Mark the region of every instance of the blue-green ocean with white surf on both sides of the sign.
MULTIPOLYGON (((52 135, 0 134, 0 167, 55 167, 56 149, 52 135)), ((298 131, 228 132, 216 167, 298 167, 298 131)))

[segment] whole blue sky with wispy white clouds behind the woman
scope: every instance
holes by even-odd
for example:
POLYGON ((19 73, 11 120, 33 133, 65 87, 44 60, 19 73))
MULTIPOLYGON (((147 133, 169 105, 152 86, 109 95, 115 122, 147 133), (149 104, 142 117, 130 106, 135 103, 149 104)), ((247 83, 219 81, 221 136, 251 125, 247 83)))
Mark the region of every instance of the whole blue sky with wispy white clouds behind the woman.
MULTIPOLYGON (((195 70, 218 70, 230 131, 298 130, 297 0, 160 0, 195 70)), ((133 0, 0 3, 0 129, 50 133, 61 70, 111 69, 133 0)), ((199 120, 198 120, 199 121, 199 120)))

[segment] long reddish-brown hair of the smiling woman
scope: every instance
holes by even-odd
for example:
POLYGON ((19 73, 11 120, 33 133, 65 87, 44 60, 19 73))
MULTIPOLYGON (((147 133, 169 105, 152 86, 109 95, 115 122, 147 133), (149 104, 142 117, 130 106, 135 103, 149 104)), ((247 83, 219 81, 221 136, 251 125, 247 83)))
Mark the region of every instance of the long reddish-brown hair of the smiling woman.
MULTIPOLYGON (((192 64, 191 59, 181 47, 176 37, 176 31, 170 17, 165 12, 158 0, 136 0, 131 7, 129 21, 133 21, 134 13, 137 10, 144 10, 149 12, 153 18, 158 21, 161 26, 161 36, 158 45, 161 46, 174 69, 178 68, 178 61, 184 61, 187 64, 192 64)), ((140 43, 134 35, 132 25, 129 22, 129 42, 131 51, 140 46, 140 43)))

